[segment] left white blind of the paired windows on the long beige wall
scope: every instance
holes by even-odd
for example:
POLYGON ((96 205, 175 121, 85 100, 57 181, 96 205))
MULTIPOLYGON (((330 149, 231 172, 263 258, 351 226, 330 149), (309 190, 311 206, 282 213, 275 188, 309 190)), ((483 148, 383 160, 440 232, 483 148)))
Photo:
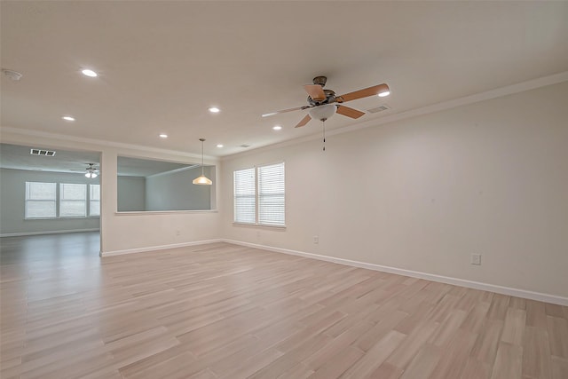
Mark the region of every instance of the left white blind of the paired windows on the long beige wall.
POLYGON ((233 172, 234 222, 256 223, 255 169, 233 172))

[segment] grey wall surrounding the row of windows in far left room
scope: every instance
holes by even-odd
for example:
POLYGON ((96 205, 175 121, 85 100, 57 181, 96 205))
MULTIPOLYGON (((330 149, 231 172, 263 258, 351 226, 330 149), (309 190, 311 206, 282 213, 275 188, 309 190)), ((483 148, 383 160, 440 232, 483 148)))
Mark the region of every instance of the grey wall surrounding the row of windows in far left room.
POLYGON ((99 184, 83 173, 0 169, 0 235, 99 230, 99 217, 25 219, 26 182, 99 184))

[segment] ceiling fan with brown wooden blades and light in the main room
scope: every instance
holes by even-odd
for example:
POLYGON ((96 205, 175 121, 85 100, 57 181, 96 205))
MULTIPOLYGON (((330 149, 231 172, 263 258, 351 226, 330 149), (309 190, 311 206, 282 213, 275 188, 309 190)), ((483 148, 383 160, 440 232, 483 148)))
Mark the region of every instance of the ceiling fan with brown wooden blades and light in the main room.
POLYGON ((343 105, 343 103, 351 100, 367 98, 374 95, 384 97, 390 94, 389 86, 383 83, 374 85, 373 87, 364 88, 359 91, 348 92, 343 95, 336 96, 335 91, 323 89, 326 83, 326 76, 316 76, 313 78, 313 84, 304 85, 304 90, 308 93, 309 105, 283 109, 280 111, 263 114, 262 116, 268 117, 274 114, 310 109, 309 114, 306 114, 305 117, 297 123, 296 128, 304 126, 306 123, 310 122, 312 118, 325 122, 335 113, 343 114, 347 117, 357 119, 365 114, 365 112, 361 112, 355 108, 346 107, 343 105))

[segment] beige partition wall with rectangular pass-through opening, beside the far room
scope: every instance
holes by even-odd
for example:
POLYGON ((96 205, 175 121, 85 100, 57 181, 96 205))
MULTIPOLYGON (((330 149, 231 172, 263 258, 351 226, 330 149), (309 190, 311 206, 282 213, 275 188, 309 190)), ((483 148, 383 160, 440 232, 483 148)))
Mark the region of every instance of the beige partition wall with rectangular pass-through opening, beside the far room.
MULTIPOLYGON (((129 253, 151 249, 167 249, 202 241, 217 241, 219 215, 217 209, 182 212, 117 212, 118 180, 117 157, 132 156, 155 160, 193 164, 201 161, 201 154, 168 152, 162 149, 124 146, 108 141, 58 136, 39 131, 16 130, 3 127, 2 141, 6 144, 30 144, 45 148, 75 150, 79 144, 83 151, 101 155, 99 176, 101 186, 101 254, 129 253)), ((216 165, 215 159, 205 157, 205 164, 216 165)), ((212 191, 218 191, 217 178, 212 191)), ((217 204, 215 204, 217 207, 217 204)))

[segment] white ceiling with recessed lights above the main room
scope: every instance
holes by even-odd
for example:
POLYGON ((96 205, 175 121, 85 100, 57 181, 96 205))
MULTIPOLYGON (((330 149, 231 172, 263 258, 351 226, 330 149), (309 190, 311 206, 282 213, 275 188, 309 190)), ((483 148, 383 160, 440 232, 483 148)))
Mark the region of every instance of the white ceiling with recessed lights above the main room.
POLYGON ((1 2, 3 127, 223 156, 319 134, 303 84, 388 83, 391 109, 328 130, 564 72, 568 2, 1 2), (84 77, 90 67, 99 78, 84 77), (220 107, 220 114, 207 108, 220 107), (75 122, 61 116, 72 114, 75 122), (283 130, 274 131, 280 124, 283 130), (158 138, 161 132, 170 138, 158 138), (217 144, 225 147, 217 148, 217 144))

